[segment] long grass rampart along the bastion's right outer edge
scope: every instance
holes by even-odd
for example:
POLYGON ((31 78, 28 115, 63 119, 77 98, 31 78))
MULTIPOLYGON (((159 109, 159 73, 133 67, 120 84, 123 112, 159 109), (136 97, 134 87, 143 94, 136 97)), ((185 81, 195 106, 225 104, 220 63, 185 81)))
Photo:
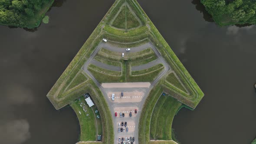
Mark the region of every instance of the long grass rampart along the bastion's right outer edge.
MULTIPOLYGON (((128 0, 129 5, 132 5, 132 9, 140 16, 142 22, 147 22, 148 27, 150 27, 149 39, 154 46, 158 49, 164 59, 171 65, 172 69, 177 74, 178 78, 184 84, 185 88, 189 91, 189 97, 187 95, 179 95, 175 98, 182 101, 184 104, 190 106, 191 108, 195 108, 200 100, 203 98, 203 92, 191 77, 191 75, 187 72, 187 69, 184 68, 184 65, 180 62, 174 52, 171 50, 170 46, 164 40, 164 38, 159 33, 158 29, 154 26, 151 20, 148 18, 147 14, 142 10, 140 5, 136 0, 128 0)), ((173 91, 172 89, 169 89, 173 91)), ((174 91, 174 93, 179 93, 179 91, 174 91)))

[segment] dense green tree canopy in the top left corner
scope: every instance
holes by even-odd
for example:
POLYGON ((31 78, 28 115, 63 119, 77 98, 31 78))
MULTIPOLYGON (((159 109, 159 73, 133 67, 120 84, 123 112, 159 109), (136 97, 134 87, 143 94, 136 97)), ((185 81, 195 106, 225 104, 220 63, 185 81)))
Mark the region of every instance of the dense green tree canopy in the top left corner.
POLYGON ((28 21, 43 8, 43 5, 52 1, 0 0, 0 24, 26 27, 28 21))

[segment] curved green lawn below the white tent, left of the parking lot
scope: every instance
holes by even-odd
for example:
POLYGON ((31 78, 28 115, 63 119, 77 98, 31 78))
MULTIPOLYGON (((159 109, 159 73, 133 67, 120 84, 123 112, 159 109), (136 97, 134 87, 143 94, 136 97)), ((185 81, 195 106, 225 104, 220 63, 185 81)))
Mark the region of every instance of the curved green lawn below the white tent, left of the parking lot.
MULTIPOLYGON (((70 104, 70 106, 75 111, 80 124, 80 141, 96 141, 97 136, 97 129, 96 129, 96 119, 94 116, 94 111, 92 108, 86 104, 86 101, 83 97, 80 97, 81 101, 76 100, 70 104), (80 103, 82 107, 80 107, 80 103), (86 112, 83 111, 83 107, 85 108, 86 112), (79 114, 81 112, 81 115, 79 114), (88 114, 88 116, 87 116, 88 114)), ((101 128, 102 129, 102 128, 101 128)))

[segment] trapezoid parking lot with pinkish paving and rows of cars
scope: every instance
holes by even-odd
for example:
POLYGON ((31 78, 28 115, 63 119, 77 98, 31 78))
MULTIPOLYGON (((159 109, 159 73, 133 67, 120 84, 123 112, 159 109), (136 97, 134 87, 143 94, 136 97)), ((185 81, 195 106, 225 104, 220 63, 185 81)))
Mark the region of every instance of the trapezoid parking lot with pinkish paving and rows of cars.
MULTIPOLYGON (((149 89, 148 83, 120 83, 120 85, 119 83, 108 83, 103 85, 105 87, 104 95, 108 101, 114 121, 115 144, 119 143, 119 137, 120 139, 124 137, 123 142, 125 142, 125 137, 135 137, 135 142, 133 142, 135 144, 138 141, 139 116, 146 98, 145 95, 147 95, 149 89), (117 87, 115 88, 115 86, 117 87), (123 93, 123 96, 121 96, 121 93, 123 93), (112 100, 112 94, 115 94, 114 100, 112 100), (135 113, 135 109, 137 113, 135 113), (124 123, 123 126, 121 126, 122 122, 124 123), (125 126, 125 122, 127 122, 127 126, 125 126), (118 125, 119 123, 120 126, 118 125)), ((125 143, 128 144, 128 141, 125 143)))

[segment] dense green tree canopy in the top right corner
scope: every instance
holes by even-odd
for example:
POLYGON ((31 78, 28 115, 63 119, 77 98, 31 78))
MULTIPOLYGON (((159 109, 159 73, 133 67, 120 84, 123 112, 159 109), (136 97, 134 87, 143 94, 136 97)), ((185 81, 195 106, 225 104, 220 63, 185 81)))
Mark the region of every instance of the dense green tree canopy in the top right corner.
POLYGON ((256 24, 256 0, 201 0, 219 26, 256 24))

